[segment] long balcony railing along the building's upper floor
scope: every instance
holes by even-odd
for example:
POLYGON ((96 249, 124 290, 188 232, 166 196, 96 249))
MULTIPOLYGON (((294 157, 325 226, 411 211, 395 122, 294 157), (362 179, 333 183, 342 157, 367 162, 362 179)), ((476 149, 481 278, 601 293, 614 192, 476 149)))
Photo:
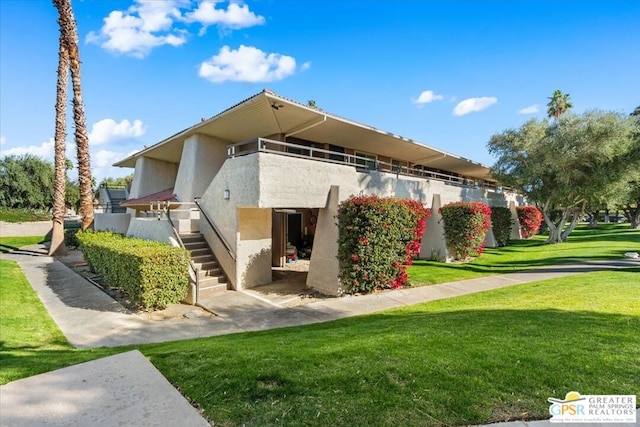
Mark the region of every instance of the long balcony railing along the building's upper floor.
POLYGON ((420 165, 409 167, 407 165, 396 164, 394 162, 383 162, 370 157, 341 153, 338 151, 325 150, 306 145, 292 144, 290 142, 274 141, 266 138, 255 138, 227 146, 227 158, 234 158, 258 152, 347 165, 356 167, 356 169, 363 172, 388 172, 396 175, 436 179, 439 181, 446 181, 453 185, 470 188, 488 188, 494 191, 502 191, 502 187, 497 186, 494 183, 436 172, 420 165))

